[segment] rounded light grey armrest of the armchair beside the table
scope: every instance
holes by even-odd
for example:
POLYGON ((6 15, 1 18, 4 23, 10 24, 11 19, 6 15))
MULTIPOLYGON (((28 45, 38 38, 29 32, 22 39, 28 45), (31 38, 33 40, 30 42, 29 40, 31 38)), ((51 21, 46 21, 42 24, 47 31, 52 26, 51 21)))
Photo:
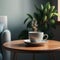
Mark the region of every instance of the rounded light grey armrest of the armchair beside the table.
POLYGON ((5 29, 2 34, 1 34, 1 41, 4 42, 9 42, 11 41, 11 32, 8 29, 5 29))

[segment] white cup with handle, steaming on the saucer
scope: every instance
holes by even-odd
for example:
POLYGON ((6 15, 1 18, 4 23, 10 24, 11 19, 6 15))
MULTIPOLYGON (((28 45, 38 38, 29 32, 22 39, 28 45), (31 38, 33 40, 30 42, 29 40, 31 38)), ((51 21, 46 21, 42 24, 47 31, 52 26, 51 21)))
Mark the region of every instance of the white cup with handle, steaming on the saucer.
POLYGON ((48 35, 47 34, 44 34, 44 32, 29 32, 29 39, 31 42, 34 42, 34 43, 39 43, 43 40, 47 40, 48 39, 48 35), (44 38, 46 37, 46 38, 44 38))

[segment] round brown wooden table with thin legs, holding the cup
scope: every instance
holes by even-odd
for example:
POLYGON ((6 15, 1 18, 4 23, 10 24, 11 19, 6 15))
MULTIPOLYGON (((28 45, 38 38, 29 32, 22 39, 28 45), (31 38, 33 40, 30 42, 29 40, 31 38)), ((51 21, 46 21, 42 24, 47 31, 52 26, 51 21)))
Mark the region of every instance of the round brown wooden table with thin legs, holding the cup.
MULTIPOLYGON (((33 60, 35 60, 35 53, 47 53, 48 56, 50 53, 53 53, 54 60, 56 60, 55 51, 60 50, 60 42, 54 40, 48 40, 43 45, 38 46, 27 46, 24 43, 24 40, 14 40, 11 42, 6 42, 3 44, 3 48, 9 51, 14 52, 12 60, 15 60, 16 53, 32 53, 33 60)), ((50 57, 49 57, 50 59, 50 57)))

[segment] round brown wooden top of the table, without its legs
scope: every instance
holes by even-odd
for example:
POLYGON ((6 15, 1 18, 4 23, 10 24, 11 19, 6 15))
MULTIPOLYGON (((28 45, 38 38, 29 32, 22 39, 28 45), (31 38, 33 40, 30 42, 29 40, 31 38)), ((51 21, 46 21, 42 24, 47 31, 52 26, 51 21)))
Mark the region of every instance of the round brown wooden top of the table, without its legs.
POLYGON ((3 47, 10 51, 24 51, 24 52, 46 52, 60 50, 60 41, 48 40, 43 45, 26 46, 24 40, 14 40, 5 42, 3 47))

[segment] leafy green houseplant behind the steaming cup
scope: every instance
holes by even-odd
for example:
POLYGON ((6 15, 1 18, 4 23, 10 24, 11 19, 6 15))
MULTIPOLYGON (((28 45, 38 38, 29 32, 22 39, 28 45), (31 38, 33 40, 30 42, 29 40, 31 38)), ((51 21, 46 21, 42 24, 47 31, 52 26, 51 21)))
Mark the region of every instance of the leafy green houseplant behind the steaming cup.
POLYGON ((28 29, 33 31, 42 31, 49 35, 49 39, 53 38, 52 28, 56 28, 55 16, 58 16, 55 6, 49 2, 45 5, 41 4, 39 7, 35 5, 36 12, 27 14, 24 24, 27 24, 26 30, 23 30, 19 38, 28 38, 28 29))

